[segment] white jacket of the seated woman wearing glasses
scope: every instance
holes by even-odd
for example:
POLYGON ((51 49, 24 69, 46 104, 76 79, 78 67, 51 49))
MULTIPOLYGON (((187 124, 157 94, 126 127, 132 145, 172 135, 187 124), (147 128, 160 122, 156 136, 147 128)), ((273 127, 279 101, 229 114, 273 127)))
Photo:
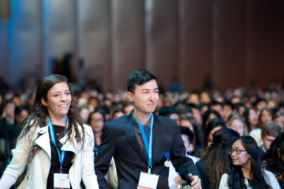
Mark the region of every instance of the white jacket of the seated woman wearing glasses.
MULTIPOLYGON (((272 172, 267 171, 265 169, 262 169, 262 171, 264 171, 263 178, 269 186, 271 186, 273 189, 281 189, 278 181, 276 180, 272 172)), ((229 175, 227 173, 222 175, 221 180, 220 180, 219 189, 229 189, 228 177, 229 175)))

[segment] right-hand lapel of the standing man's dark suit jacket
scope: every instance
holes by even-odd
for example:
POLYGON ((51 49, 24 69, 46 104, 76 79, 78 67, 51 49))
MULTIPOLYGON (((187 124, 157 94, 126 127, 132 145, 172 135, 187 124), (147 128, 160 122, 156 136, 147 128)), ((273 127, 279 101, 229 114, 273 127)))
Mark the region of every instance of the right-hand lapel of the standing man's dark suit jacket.
POLYGON ((153 159, 152 159, 152 164, 154 163, 160 146, 161 146, 161 142, 162 142, 162 138, 163 138, 163 128, 161 125, 161 122, 159 120, 159 118, 154 114, 154 125, 153 125, 153 129, 154 129, 154 136, 153 136, 153 159))

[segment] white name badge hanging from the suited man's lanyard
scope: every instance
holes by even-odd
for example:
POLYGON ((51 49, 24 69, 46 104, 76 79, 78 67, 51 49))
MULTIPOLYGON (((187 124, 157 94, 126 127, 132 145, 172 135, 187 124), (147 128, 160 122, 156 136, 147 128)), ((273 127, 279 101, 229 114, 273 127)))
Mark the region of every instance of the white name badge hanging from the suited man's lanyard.
POLYGON ((156 189, 159 175, 148 174, 141 171, 137 189, 156 189))

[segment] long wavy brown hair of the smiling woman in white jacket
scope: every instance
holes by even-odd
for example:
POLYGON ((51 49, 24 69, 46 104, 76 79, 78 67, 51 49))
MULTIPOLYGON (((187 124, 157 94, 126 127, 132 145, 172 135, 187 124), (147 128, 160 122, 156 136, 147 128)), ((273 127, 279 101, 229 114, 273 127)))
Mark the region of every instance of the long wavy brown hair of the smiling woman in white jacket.
MULTIPOLYGON (((31 141, 30 137, 33 135, 33 132, 35 132, 36 127, 41 128, 47 125, 46 119, 49 113, 47 111, 47 108, 43 106, 43 104, 41 103, 41 98, 44 98, 44 100, 47 101, 48 100, 47 93, 49 89, 51 89, 51 87, 53 87, 55 84, 61 83, 61 82, 67 83, 70 89, 70 84, 68 83, 68 80, 65 76, 54 74, 54 75, 47 76, 41 80, 35 92, 35 102, 30 111, 30 115, 28 116, 28 118, 26 118, 22 122, 20 136, 18 137, 17 140, 20 140, 23 137, 25 137, 26 140, 28 139, 29 141, 31 141)), ((71 96, 72 96, 72 93, 71 93, 71 96)), ((76 108, 77 108, 77 103, 75 102, 75 100, 72 99, 69 111, 67 113, 67 116, 69 119, 69 124, 66 129, 66 134, 68 136, 67 140, 70 140, 71 142, 73 142, 70 137, 72 134, 72 128, 73 128, 75 130, 75 139, 77 140, 77 142, 81 142, 82 147, 83 147, 84 138, 85 138, 84 127, 81 122, 80 115, 78 114, 76 108), (82 133, 80 133, 77 124, 81 126, 82 133), (81 137, 81 134, 82 134, 82 137, 81 137)), ((39 136, 40 135, 38 135, 38 137, 39 136)), ((26 153, 28 153, 27 163, 30 163, 32 158, 35 156, 35 154, 41 149, 38 145, 35 144, 35 140, 32 141, 31 149, 26 151, 26 153)))

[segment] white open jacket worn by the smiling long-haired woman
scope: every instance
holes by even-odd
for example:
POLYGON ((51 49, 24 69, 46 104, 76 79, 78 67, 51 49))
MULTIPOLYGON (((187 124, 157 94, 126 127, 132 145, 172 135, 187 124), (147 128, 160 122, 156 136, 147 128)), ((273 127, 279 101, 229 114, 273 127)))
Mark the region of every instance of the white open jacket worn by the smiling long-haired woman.
MULTIPOLYGON (((97 176, 94 170, 94 136, 90 126, 83 125, 85 130, 85 142, 83 145, 77 143, 75 139, 75 130, 72 129, 72 136, 70 140, 67 140, 68 136, 65 135, 59 141, 63 144, 61 150, 72 151, 75 153, 75 162, 72 164, 69 170, 70 184, 73 189, 80 189, 81 177, 86 188, 99 188, 97 182, 97 176), (67 140, 67 141, 66 141, 67 140), (66 142, 66 143, 65 143, 66 142), (64 144, 65 143, 65 144, 64 144)), ((82 133, 81 126, 78 124, 78 129, 82 133)), ((0 179, 0 188, 9 189, 17 180, 18 176, 22 174, 25 169, 25 165, 28 158, 28 152, 31 149, 32 142, 39 134, 42 134, 36 139, 36 144, 41 147, 41 150, 36 153, 31 163, 28 165, 28 183, 27 186, 20 185, 21 188, 33 189, 33 188, 46 188, 47 177, 50 169, 51 160, 51 148, 49 142, 48 125, 40 128, 30 129, 30 139, 28 136, 23 137, 21 140, 17 140, 16 148, 12 150, 12 161, 7 166, 0 179)), ((81 134, 82 136, 82 134, 81 134)), ((25 178, 27 179, 27 177, 25 178)))

